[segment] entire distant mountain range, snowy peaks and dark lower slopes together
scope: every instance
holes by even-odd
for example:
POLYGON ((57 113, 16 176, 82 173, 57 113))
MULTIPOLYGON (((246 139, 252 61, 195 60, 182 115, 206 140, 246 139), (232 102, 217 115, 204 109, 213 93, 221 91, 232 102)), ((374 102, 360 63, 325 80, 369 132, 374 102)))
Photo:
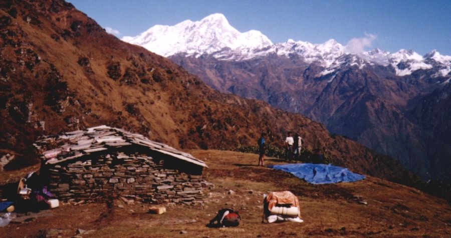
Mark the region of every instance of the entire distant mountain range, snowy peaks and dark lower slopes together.
POLYGON ((397 158, 424 178, 451 180, 451 56, 356 52, 330 39, 272 43, 224 15, 155 25, 122 40, 169 57, 222 92, 262 99, 323 122, 397 158))

